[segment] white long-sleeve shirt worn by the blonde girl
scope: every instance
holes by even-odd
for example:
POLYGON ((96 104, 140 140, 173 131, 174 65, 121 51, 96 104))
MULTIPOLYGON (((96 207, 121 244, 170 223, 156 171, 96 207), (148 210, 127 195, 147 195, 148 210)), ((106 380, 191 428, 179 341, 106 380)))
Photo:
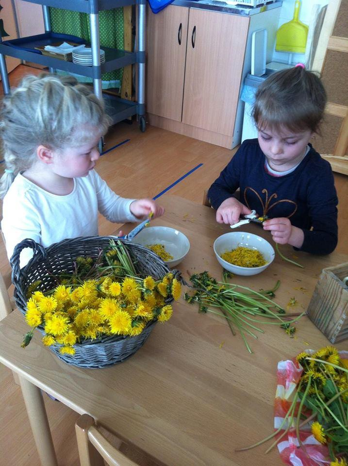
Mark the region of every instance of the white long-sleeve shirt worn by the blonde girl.
MULTIPOLYGON (((74 178, 74 188, 66 196, 51 194, 18 174, 3 200, 1 229, 10 258, 15 246, 31 238, 45 248, 66 238, 98 235, 98 212, 111 222, 134 222, 130 211, 133 199, 117 196, 95 170, 74 178)), ((23 267, 32 257, 25 249, 23 267)))

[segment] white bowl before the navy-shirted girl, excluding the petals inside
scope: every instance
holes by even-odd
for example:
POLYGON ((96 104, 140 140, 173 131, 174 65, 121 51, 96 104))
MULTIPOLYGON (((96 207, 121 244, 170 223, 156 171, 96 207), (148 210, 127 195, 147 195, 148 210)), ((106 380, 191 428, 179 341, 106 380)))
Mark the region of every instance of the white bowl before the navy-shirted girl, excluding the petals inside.
POLYGON ((231 232, 225 233, 215 239, 214 242, 214 252, 218 262, 226 268, 229 272, 235 273, 236 275, 256 275, 265 268, 267 268, 274 259, 275 252, 272 246, 261 236, 252 233, 246 232, 231 232), (264 256, 267 264, 261 267, 240 267, 230 264, 227 261, 224 261, 221 257, 226 251, 231 251, 233 249, 242 246, 243 248, 255 249, 261 252, 264 256))

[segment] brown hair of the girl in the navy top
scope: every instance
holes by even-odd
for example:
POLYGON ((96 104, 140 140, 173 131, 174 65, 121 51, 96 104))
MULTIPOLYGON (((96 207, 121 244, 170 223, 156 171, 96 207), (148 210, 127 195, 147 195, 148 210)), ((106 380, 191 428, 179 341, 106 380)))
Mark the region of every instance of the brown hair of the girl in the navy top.
POLYGON ((320 78, 297 66, 271 74, 258 87, 253 117, 258 129, 318 133, 326 101, 320 78))

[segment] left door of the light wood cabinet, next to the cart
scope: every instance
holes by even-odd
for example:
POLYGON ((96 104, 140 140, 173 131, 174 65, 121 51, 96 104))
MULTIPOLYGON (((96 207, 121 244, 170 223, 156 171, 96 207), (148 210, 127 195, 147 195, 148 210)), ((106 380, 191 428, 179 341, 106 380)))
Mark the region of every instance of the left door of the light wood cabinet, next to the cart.
POLYGON ((181 121, 188 8, 169 5, 147 22, 147 111, 181 121))

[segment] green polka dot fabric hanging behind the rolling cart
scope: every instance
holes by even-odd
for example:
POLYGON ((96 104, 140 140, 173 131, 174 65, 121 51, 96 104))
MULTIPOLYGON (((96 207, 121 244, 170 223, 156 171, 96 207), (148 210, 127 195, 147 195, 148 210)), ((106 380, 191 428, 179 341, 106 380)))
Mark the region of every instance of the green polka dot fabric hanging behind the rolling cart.
MULTIPOLYGON (((75 11, 50 8, 51 29, 54 33, 71 34, 91 42, 89 15, 75 11)), ((99 12, 99 40, 100 47, 124 49, 124 23, 123 8, 104 10, 99 12)), ((60 71, 59 74, 66 74, 60 71)), ((102 88, 110 89, 121 87, 123 68, 103 73, 101 75, 102 88)), ((82 83, 91 83, 92 79, 86 76, 74 76, 82 83)))

